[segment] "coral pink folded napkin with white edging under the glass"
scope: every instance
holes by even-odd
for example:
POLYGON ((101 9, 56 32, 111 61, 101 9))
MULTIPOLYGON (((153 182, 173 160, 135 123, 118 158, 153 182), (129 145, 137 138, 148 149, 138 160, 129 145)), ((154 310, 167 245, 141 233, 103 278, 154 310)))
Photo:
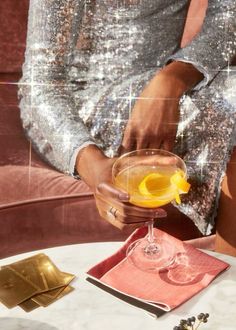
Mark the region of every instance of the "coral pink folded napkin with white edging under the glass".
POLYGON ((176 261, 164 270, 143 271, 126 258, 126 250, 130 243, 145 235, 146 228, 136 230, 121 249, 91 268, 88 275, 123 295, 170 311, 207 287, 219 273, 229 267, 227 263, 190 244, 154 229, 155 237, 173 244, 176 261))

